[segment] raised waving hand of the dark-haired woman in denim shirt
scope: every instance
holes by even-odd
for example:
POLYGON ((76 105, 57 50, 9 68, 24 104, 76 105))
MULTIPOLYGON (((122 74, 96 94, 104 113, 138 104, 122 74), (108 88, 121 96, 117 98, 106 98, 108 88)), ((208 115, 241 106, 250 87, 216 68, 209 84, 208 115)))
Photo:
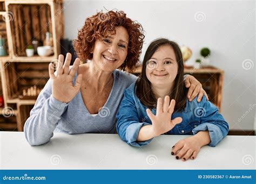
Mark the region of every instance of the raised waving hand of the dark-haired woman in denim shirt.
POLYGON ((149 116, 152 122, 152 132, 154 137, 160 136, 163 133, 166 133, 174 128, 175 125, 182 122, 181 117, 176 117, 171 119, 172 113, 175 107, 175 100, 171 100, 170 97, 165 96, 164 102, 162 98, 157 100, 157 112, 156 116, 152 114, 150 109, 147 109, 147 115, 149 116))

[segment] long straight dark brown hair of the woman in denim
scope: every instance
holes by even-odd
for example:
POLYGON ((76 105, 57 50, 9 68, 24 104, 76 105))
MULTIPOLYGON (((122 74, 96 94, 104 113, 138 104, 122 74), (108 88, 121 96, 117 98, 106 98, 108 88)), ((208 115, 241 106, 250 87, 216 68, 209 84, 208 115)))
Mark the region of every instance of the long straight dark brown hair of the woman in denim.
POLYGON ((157 99, 153 94, 151 89, 151 83, 147 79, 146 76, 146 65, 147 61, 149 61, 157 51, 157 49, 161 46, 170 45, 174 53, 176 55, 176 60, 178 63, 178 73, 174 80, 173 89, 169 94, 170 99, 174 99, 176 101, 176 105, 174 111, 182 111, 186 107, 186 93, 187 90, 185 88, 185 84, 183 82, 183 75, 184 75, 184 65, 183 65, 183 58, 179 48, 179 45, 174 42, 170 41, 169 39, 159 38, 153 40, 152 43, 146 50, 144 59, 143 59, 143 66, 142 66, 142 73, 140 74, 139 79, 136 81, 136 95, 138 96, 140 102, 143 105, 149 108, 155 108, 157 104, 157 99))

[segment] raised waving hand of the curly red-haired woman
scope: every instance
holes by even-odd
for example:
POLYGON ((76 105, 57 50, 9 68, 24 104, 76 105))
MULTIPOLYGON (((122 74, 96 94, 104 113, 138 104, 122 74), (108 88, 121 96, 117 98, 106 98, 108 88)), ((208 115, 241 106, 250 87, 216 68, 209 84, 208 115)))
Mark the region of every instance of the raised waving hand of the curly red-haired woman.
POLYGON ((49 75, 52 80, 52 96, 63 103, 70 102, 78 94, 82 84, 82 74, 79 74, 76 79, 76 85, 73 86, 73 77, 75 76, 80 60, 77 58, 69 70, 71 56, 70 53, 66 54, 66 60, 63 65, 64 56, 62 54, 59 55, 56 76, 54 74, 53 64, 50 63, 49 65, 49 75))

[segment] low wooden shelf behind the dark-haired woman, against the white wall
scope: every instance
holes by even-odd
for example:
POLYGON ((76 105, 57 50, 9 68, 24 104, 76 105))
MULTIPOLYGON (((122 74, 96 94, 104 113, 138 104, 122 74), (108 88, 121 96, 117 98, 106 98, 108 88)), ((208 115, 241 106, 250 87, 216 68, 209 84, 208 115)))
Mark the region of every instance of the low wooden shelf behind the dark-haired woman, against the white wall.
MULTIPOLYGON (((141 72, 142 66, 138 66, 134 74, 138 75, 141 72)), ((190 74, 196 77, 206 91, 209 100, 221 111, 224 71, 214 66, 204 66, 200 69, 185 66, 184 74, 190 74)))

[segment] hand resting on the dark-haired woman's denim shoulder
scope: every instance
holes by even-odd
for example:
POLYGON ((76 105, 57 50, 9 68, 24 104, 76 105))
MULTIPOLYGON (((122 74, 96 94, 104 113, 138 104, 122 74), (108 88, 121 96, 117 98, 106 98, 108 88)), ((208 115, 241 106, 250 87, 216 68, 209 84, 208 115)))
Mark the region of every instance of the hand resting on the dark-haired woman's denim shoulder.
POLYGON ((205 90, 202 87, 202 84, 192 75, 185 75, 185 86, 188 89, 187 98, 189 101, 192 101, 197 95, 197 101, 200 102, 203 95, 209 100, 205 90))

